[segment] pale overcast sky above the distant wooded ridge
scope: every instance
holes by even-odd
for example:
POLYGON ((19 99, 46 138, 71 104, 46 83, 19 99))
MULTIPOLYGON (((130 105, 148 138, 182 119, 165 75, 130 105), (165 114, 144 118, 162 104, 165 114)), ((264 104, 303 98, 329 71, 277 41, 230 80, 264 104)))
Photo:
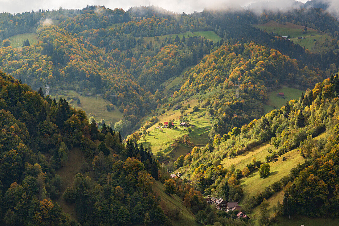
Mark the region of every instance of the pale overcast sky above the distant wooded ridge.
MULTIPOLYGON (((0 12, 21 13, 25 11, 36 11, 63 8, 83 8, 86 5, 104 5, 108 8, 123 8, 128 10, 131 6, 158 5, 166 10, 176 13, 192 13, 202 11, 203 8, 232 7, 238 4, 246 6, 253 2, 269 0, 0 0, 0 12)), ((278 0, 282 5, 286 0, 278 0)), ((307 0, 299 0, 305 2, 307 0)), ((336 0, 333 0, 336 1, 336 0)))

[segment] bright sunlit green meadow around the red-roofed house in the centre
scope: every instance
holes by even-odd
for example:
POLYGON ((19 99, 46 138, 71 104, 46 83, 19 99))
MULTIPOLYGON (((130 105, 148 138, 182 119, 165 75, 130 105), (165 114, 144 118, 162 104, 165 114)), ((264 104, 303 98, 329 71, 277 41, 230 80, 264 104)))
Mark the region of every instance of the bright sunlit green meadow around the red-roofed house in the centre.
POLYGON ((187 114, 186 117, 193 117, 189 121, 190 124, 194 125, 192 132, 189 134, 190 141, 193 143, 193 146, 178 143, 179 146, 176 149, 171 148, 171 144, 175 142, 180 136, 188 134, 186 127, 180 127, 180 121, 178 117, 181 115, 180 110, 169 110, 165 114, 158 116, 159 122, 164 123, 174 119, 173 124, 177 128, 156 128, 158 123, 148 128, 150 131, 148 135, 145 136, 145 140, 141 138, 139 143, 142 143, 144 147, 147 147, 148 144, 152 146, 153 154, 156 154, 158 151, 163 152, 165 155, 168 155, 171 159, 176 159, 180 155, 186 155, 188 152, 191 152, 194 146, 202 147, 208 143, 208 133, 211 129, 211 119, 210 114, 206 113, 207 109, 200 109, 197 112, 192 112, 192 108, 197 105, 197 100, 190 100, 185 102, 183 106, 186 106, 190 103, 191 107, 186 110, 184 114, 187 114))

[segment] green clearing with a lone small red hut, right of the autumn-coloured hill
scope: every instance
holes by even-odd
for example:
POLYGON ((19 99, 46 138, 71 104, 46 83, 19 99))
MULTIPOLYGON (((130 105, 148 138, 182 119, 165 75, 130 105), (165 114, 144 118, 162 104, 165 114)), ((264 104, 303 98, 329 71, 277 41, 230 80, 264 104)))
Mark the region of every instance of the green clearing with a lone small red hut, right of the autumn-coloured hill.
MULTIPOLYGON (((288 88, 288 87, 284 87, 279 90, 269 92, 268 95, 270 96, 268 97, 268 101, 266 102, 266 105, 272 106, 273 108, 281 108, 283 105, 286 104, 288 100, 299 100, 299 97, 301 96, 302 92, 305 94, 304 90, 298 90, 298 89, 293 89, 293 88, 288 88), (282 98, 281 96, 277 96, 277 93, 284 93, 285 99, 282 98)), ((266 111, 268 111, 269 109, 271 108, 264 106, 265 113, 267 113, 266 111)))

